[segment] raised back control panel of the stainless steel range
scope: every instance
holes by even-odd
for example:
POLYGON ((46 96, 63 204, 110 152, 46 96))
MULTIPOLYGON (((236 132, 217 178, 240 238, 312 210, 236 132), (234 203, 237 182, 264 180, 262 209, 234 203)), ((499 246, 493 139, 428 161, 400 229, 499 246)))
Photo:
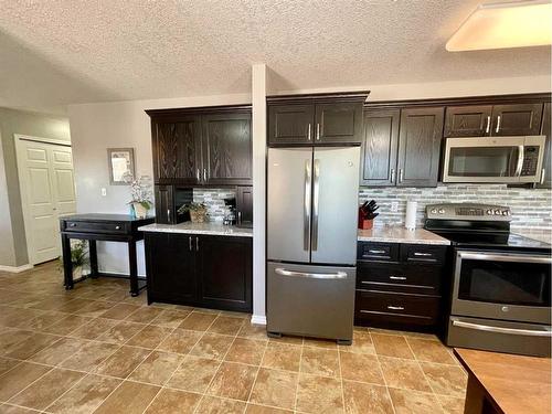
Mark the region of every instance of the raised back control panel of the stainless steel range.
POLYGON ((511 221, 511 210, 503 205, 447 203, 425 208, 427 219, 511 221))

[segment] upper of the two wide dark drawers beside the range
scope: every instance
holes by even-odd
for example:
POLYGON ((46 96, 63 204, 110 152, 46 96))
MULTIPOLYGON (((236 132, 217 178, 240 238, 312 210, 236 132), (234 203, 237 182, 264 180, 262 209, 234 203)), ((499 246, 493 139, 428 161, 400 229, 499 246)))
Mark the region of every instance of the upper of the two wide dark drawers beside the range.
POLYGON ((438 295, 442 267, 388 263, 359 263, 357 287, 396 293, 438 295))

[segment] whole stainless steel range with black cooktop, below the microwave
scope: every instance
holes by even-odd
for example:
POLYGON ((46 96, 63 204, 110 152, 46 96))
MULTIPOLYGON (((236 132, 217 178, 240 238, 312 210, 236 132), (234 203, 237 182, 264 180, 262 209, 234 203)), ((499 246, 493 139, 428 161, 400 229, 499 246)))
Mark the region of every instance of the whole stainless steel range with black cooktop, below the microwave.
POLYGON ((446 343, 551 354, 551 245, 510 233, 509 208, 433 204, 425 229, 453 245, 446 343))

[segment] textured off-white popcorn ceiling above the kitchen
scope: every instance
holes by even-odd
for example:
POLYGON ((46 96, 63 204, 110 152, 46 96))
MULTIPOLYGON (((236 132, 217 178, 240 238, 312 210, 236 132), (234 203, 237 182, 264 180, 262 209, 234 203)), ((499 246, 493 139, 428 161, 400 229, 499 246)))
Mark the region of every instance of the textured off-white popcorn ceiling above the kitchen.
POLYGON ((1 0, 0 105, 550 74, 549 47, 448 53, 478 0, 1 0))

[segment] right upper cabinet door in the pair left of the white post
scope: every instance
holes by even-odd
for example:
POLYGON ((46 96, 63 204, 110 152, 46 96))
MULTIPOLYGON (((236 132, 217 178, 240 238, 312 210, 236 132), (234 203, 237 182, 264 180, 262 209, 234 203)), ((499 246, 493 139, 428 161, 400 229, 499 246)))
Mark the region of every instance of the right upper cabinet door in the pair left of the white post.
POLYGON ((202 117, 203 183, 251 184, 251 113, 202 117))

